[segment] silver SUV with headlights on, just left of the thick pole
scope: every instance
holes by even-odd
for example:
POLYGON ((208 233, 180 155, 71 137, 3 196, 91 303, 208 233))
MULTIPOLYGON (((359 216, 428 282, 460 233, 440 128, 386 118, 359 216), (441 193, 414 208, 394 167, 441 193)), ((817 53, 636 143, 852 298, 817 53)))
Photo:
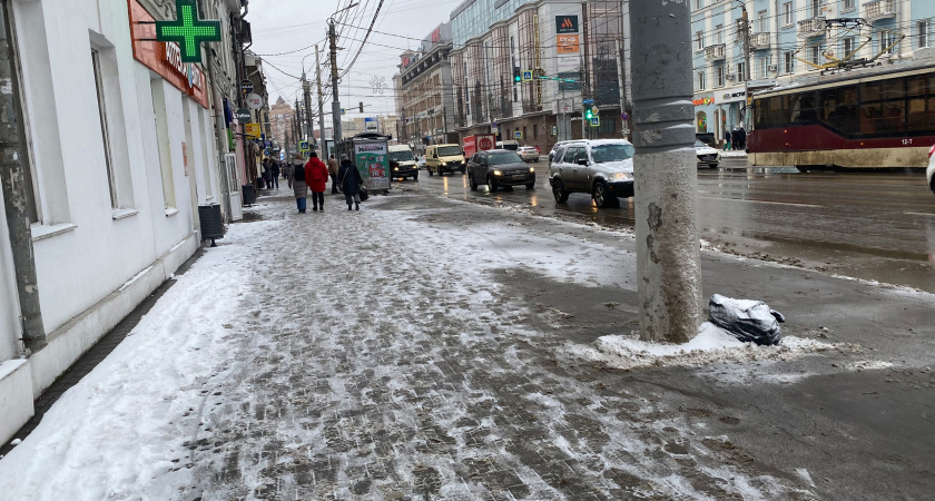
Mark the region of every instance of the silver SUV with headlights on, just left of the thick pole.
POLYGON ((624 139, 578 140, 561 145, 549 165, 549 186, 563 204, 587 193, 600 208, 617 207, 633 196, 633 145, 624 139))

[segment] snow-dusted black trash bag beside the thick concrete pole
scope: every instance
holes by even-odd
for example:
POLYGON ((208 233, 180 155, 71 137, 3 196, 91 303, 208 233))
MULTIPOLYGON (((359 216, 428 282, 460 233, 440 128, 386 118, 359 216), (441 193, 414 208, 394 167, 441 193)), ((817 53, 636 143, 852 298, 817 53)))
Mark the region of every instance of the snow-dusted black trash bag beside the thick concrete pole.
POLYGON ((783 337, 779 324, 786 322, 781 313, 762 301, 731 299, 720 294, 711 296, 708 315, 712 324, 734 337, 761 346, 778 344, 783 337))

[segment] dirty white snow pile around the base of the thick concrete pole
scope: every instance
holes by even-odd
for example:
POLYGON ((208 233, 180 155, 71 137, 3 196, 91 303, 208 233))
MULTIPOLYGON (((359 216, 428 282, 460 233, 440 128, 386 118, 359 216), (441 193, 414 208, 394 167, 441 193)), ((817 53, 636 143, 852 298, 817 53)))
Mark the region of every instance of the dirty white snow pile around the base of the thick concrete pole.
POLYGON ((834 344, 786 336, 775 346, 744 343, 706 322, 698 335, 685 344, 648 343, 638 334, 599 337, 592 346, 577 348, 578 355, 604 362, 616 369, 670 365, 707 365, 718 362, 788 361, 834 350, 834 344))

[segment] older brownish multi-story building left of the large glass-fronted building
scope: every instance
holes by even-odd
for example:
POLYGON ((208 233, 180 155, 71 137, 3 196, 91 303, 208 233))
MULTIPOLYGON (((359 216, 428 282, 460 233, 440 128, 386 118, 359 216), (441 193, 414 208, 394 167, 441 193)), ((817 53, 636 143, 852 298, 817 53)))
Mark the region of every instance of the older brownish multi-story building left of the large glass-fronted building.
POLYGON ((393 134, 416 149, 457 141, 450 52, 451 24, 443 22, 416 50, 400 56, 400 73, 393 78, 400 130, 393 134))

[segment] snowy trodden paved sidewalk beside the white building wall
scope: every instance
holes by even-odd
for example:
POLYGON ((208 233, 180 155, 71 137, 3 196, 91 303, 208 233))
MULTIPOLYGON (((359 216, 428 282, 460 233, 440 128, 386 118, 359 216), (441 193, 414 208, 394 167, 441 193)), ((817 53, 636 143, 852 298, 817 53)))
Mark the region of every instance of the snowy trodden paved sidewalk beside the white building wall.
MULTIPOLYGON (((628 237, 424 195, 338 199, 297 215, 262 198, 265 220, 233 225, 0 461, 0 492, 816 497, 807 471, 731 442, 740 407, 673 404, 679 383, 652 381, 683 370, 590 354, 634 328, 628 237)), ((766 372, 801 370, 780 360, 766 372)))

